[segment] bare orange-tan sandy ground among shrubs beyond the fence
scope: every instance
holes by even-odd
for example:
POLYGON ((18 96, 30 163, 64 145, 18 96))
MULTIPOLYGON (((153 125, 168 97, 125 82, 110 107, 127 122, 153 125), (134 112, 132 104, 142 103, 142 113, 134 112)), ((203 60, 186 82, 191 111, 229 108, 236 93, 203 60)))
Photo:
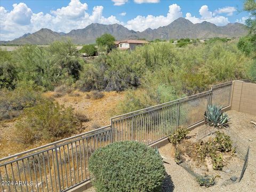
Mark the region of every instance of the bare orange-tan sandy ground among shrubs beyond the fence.
MULTIPOLYGON (((123 99, 124 96, 124 92, 103 92, 103 98, 93 100, 86 97, 86 94, 90 94, 90 92, 75 91, 75 93, 66 94, 54 99, 61 105, 73 107, 76 112, 86 115, 89 119, 88 122, 83 123, 83 130, 76 134, 109 125, 110 117, 115 113, 118 101, 123 99)), ((44 96, 53 97, 54 94, 55 92, 46 92, 44 96)), ((9 121, 0 121, 0 158, 46 144, 46 142, 37 142, 36 145, 24 146, 21 143, 15 142, 13 130, 16 121, 17 118, 9 121)))

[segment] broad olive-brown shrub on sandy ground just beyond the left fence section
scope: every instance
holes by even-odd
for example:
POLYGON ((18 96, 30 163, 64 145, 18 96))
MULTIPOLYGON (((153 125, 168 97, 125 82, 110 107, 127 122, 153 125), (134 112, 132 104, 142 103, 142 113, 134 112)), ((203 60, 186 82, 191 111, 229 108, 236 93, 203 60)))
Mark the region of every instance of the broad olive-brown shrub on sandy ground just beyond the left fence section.
POLYGON ((19 122, 15 124, 17 138, 22 143, 40 140, 55 141, 69 137, 81 127, 71 107, 65 108, 51 100, 24 110, 19 122))

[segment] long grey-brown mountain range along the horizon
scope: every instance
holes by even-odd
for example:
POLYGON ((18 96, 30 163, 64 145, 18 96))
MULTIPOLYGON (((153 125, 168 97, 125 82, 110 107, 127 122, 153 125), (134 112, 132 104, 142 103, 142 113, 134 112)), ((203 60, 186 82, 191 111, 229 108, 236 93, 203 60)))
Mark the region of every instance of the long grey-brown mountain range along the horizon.
POLYGON ((179 39, 179 38, 199 38, 207 39, 213 37, 241 37, 246 35, 248 29, 241 23, 228 23, 226 26, 216 26, 210 22, 202 22, 193 24, 185 18, 179 18, 171 22, 167 26, 157 29, 146 29, 142 32, 129 30, 122 25, 102 25, 92 23, 83 29, 74 29, 69 33, 57 33, 50 29, 40 29, 33 34, 25 34, 12 41, 1 44, 50 44, 53 41, 62 39, 63 37, 71 38, 76 44, 95 43, 96 38, 102 34, 108 33, 113 35, 116 40, 122 39, 138 39, 145 38, 148 41, 154 39, 179 39))

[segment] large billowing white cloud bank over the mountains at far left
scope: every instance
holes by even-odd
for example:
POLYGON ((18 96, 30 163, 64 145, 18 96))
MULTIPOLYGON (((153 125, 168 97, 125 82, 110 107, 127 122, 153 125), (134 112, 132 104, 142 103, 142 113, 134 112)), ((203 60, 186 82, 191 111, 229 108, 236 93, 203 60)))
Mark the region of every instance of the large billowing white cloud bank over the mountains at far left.
POLYGON ((41 28, 68 33, 72 29, 85 28, 91 23, 114 24, 115 16, 103 17, 103 6, 93 7, 92 14, 86 12, 88 6, 80 1, 70 3, 50 13, 33 13, 25 3, 13 5, 13 10, 7 11, 0 7, 0 40, 12 40, 26 33, 34 33, 41 28))

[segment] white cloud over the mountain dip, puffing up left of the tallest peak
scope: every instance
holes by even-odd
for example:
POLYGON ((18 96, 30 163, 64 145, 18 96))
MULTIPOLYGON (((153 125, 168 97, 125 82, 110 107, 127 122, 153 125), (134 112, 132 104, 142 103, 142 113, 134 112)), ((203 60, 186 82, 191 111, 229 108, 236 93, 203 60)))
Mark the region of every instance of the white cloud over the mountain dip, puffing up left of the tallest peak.
POLYGON ((177 4, 172 4, 169 6, 169 12, 167 13, 166 17, 163 15, 147 15, 147 17, 138 15, 136 18, 127 21, 125 27, 135 31, 143 31, 147 28, 156 29, 161 26, 169 25, 172 21, 180 17, 182 17, 180 6, 177 4))

